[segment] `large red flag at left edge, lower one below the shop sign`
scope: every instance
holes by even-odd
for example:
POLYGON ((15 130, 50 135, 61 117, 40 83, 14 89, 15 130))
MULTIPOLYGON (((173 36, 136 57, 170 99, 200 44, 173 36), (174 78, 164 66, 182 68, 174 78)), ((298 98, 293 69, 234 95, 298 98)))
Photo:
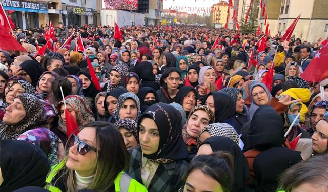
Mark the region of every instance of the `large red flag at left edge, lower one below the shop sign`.
POLYGON ((6 51, 26 51, 22 45, 0 25, 0 49, 6 51))

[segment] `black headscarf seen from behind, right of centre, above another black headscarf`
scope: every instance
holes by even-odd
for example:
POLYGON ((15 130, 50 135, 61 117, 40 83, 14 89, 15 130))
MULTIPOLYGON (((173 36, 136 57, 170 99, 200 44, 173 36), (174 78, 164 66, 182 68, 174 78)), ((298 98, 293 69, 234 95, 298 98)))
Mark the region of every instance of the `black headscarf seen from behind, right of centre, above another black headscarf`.
POLYGON ((250 148, 267 150, 285 142, 283 119, 271 106, 260 106, 254 113, 248 134, 250 148))

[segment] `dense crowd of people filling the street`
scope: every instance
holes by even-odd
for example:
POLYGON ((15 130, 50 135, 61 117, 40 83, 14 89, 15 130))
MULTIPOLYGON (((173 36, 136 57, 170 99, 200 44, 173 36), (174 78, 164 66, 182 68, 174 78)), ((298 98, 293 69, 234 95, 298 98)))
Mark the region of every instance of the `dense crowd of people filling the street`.
POLYGON ((302 79, 320 42, 59 22, 39 54, 48 27, 0 50, 0 191, 328 190, 328 87, 302 79))

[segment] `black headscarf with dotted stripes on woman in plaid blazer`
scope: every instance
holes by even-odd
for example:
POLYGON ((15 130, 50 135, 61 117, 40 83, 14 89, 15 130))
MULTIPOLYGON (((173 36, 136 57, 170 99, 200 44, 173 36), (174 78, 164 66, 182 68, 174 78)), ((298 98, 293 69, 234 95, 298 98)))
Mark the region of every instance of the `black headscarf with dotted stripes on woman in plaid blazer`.
POLYGON ((159 145, 157 152, 144 157, 151 161, 188 159, 186 144, 182 139, 181 114, 171 105, 156 103, 141 115, 142 118, 153 119, 158 127, 159 145))

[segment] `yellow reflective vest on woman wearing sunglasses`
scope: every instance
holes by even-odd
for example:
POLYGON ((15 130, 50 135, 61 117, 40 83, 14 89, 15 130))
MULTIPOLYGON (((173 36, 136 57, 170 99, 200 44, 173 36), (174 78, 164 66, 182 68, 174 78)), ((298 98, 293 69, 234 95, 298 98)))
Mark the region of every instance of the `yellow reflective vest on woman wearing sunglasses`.
MULTIPOLYGON (((55 186, 51 185, 51 181, 53 178, 57 175, 59 170, 65 166, 65 161, 61 161, 59 164, 54 165, 51 167, 51 171, 46 178, 46 186, 45 189, 51 191, 51 192, 62 192, 60 189, 58 189, 55 186)), ((127 173, 120 172, 116 179, 114 180, 115 184, 115 191, 116 192, 134 192, 134 191, 140 191, 140 192, 147 192, 147 188, 140 184, 137 180, 131 178, 127 173)))

